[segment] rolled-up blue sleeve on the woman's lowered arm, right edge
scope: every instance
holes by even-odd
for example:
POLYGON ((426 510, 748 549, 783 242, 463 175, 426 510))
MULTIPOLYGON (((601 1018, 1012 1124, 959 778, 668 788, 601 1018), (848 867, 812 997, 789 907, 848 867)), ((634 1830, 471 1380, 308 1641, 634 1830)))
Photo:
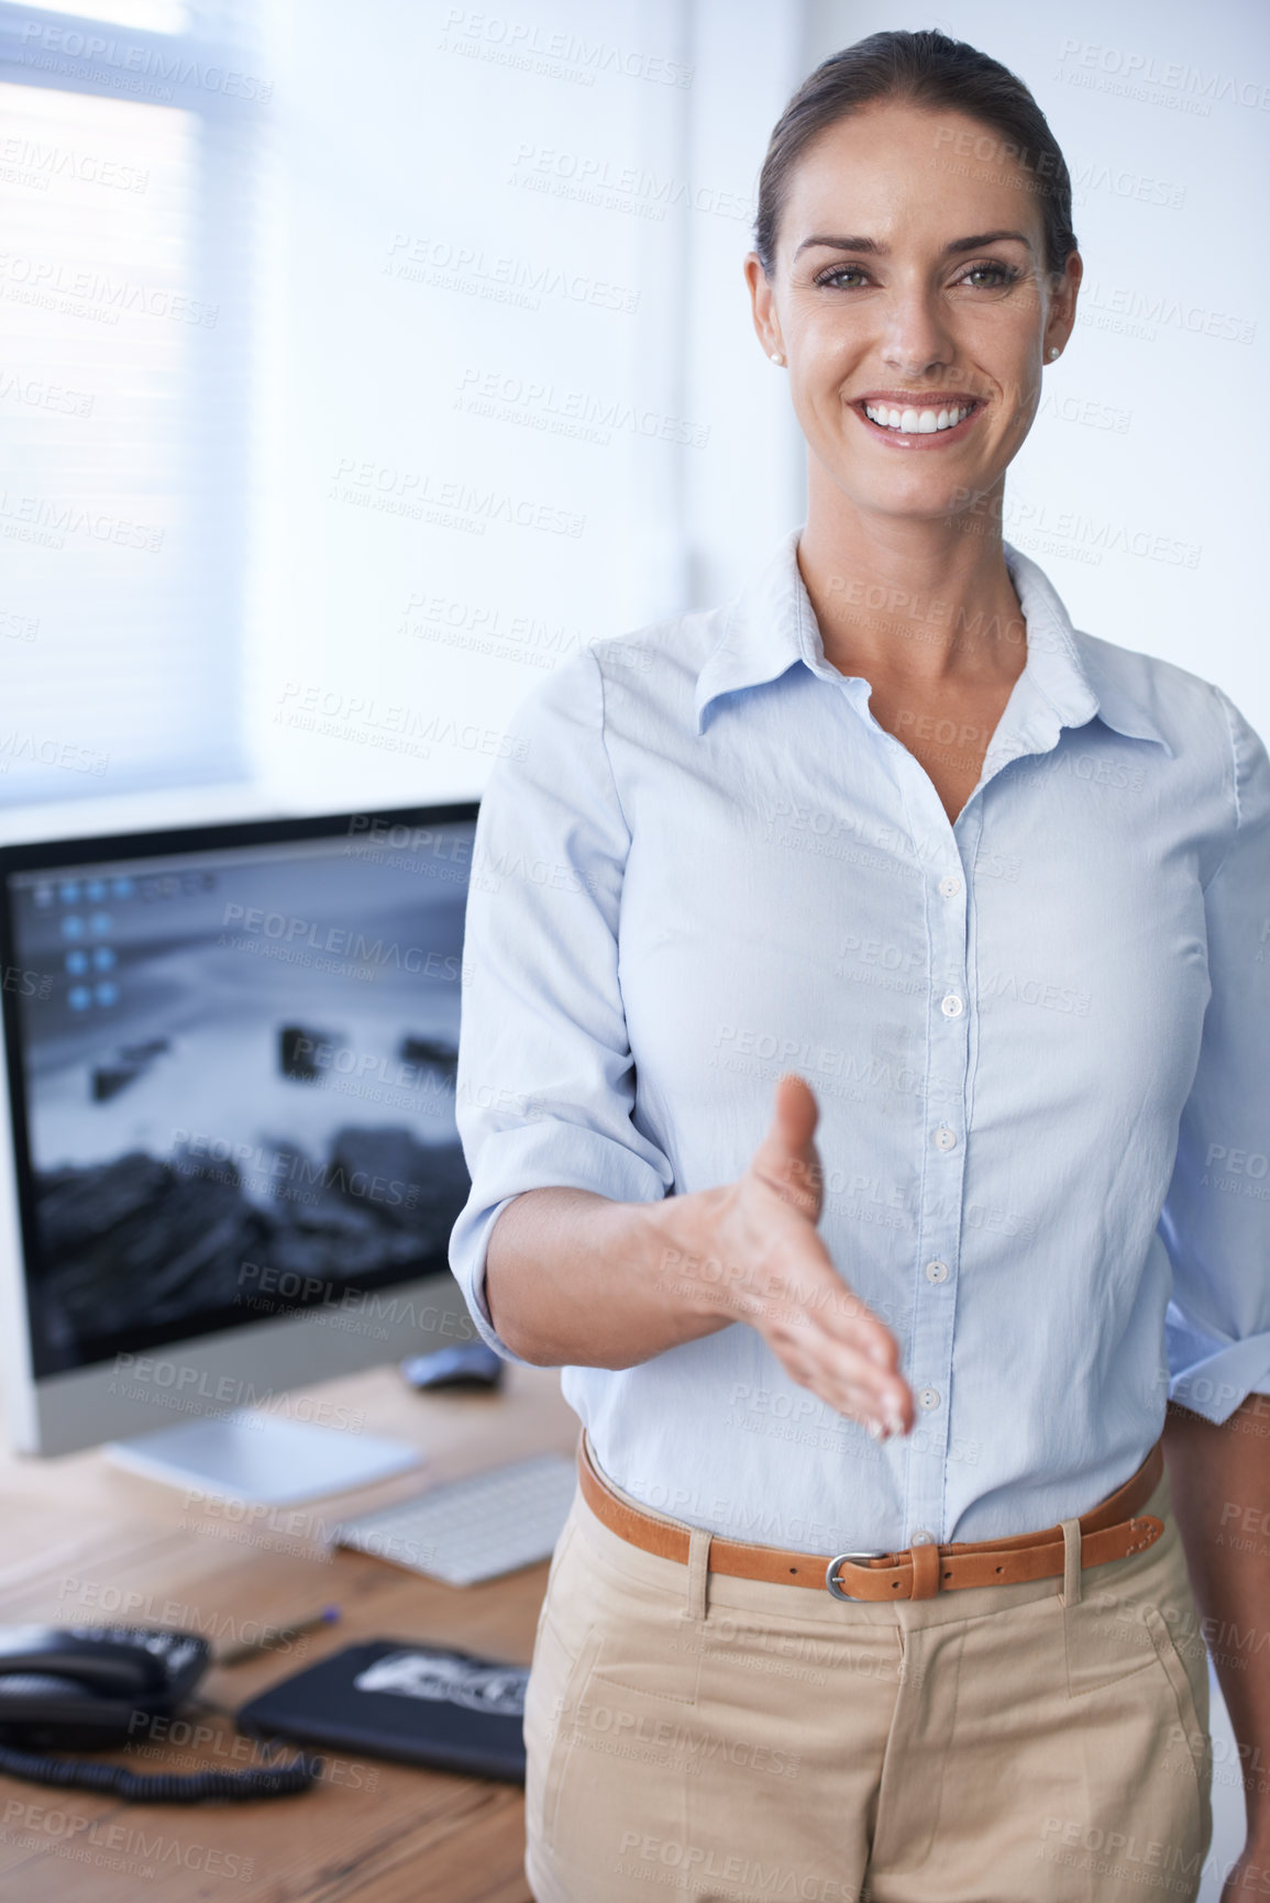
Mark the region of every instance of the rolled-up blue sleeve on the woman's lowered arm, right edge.
POLYGON ((1270 1393, 1270 761, 1220 698, 1234 837, 1205 891, 1213 991, 1160 1218, 1169 1395, 1211 1422, 1270 1393))

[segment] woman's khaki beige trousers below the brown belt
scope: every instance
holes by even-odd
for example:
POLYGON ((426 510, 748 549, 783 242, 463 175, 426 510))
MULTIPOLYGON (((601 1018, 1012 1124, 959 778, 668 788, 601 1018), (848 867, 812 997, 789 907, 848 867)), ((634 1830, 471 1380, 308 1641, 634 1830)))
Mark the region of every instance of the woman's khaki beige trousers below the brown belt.
POLYGON ((575 1498, 526 1697, 537 1903, 1194 1899, 1207 1658, 1169 1513, 1064 1579, 857 1604, 619 1540, 575 1498))

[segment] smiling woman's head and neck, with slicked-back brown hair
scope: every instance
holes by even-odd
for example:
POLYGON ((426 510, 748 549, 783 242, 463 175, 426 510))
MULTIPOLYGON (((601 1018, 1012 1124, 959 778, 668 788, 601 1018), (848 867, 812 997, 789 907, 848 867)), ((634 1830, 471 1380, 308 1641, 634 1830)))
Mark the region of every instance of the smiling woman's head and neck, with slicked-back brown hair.
POLYGON ((863 42, 794 99, 764 164, 746 276, 811 449, 798 559, 826 660, 872 683, 874 719, 956 820, 1022 670, 1003 634, 1019 622, 1005 470, 1072 333, 1081 261, 1066 166, 1032 97, 973 48, 944 42, 931 59, 923 38, 863 42), (843 575, 882 599, 925 584, 939 611, 923 664, 893 615, 859 611, 843 575), (931 716, 981 729, 982 746, 922 744, 931 716))

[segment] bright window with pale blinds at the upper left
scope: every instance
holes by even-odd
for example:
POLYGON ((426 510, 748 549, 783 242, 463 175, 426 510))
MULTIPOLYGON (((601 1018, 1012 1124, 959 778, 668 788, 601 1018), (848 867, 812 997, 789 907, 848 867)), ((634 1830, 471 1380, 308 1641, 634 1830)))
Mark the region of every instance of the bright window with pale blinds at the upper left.
POLYGON ((267 103, 227 25, 0 6, 0 805, 240 771, 267 103))

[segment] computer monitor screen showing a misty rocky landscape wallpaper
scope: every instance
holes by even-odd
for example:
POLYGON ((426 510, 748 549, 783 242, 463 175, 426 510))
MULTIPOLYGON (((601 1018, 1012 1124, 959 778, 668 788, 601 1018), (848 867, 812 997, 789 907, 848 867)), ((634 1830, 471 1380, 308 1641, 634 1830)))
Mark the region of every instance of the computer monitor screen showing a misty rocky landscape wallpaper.
POLYGON ((474 807, 444 814, 4 853, 36 1378, 446 1267, 474 807))

